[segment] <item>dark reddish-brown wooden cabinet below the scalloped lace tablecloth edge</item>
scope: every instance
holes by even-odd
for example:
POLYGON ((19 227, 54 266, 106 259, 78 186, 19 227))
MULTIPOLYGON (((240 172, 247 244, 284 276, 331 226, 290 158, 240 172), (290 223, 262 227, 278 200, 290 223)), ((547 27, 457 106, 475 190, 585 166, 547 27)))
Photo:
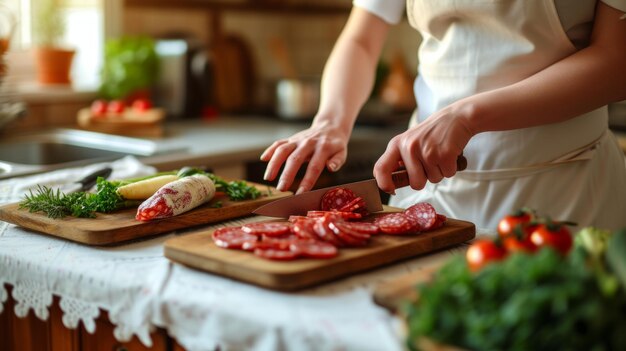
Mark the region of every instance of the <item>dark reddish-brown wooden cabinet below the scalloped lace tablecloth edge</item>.
MULTIPOLYGON (((9 287, 9 292, 11 288, 9 287)), ((136 337, 119 342, 113 337, 114 326, 106 311, 96 320, 96 332, 87 333, 82 327, 68 329, 63 325, 59 298, 55 297, 47 321, 37 318, 32 310, 25 318, 15 316, 12 298, 0 314, 0 350, 2 351, 183 351, 184 349, 158 329, 152 333, 152 347, 144 346, 136 337)))

